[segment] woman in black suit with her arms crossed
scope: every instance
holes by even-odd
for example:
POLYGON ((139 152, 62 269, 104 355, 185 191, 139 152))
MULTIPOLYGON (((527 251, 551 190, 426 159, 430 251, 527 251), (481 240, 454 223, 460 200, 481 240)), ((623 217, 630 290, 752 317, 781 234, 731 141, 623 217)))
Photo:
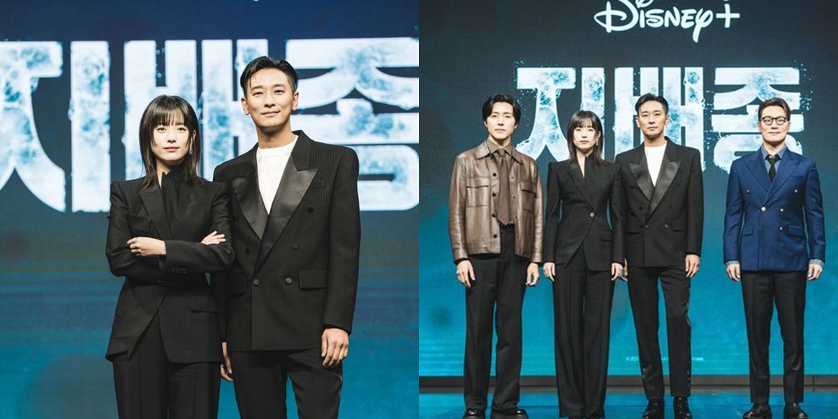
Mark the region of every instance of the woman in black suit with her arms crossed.
POLYGON ((145 176, 111 184, 106 256, 125 277, 106 358, 121 419, 215 418, 221 338, 207 272, 233 251, 230 198, 199 178, 198 117, 178 96, 158 96, 140 123, 145 176))

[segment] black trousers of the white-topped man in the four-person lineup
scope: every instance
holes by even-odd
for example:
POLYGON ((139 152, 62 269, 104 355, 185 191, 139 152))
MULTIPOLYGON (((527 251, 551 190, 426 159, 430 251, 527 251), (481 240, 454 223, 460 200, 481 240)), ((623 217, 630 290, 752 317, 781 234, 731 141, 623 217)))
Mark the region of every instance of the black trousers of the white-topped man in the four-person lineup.
POLYGON ((629 261, 629 301, 637 330, 640 374, 648 399, 664 396, 664 368, 660 359, 658 278, 664 290, 666 335, 670 356, 670 393, 690 396, 691 326, 690 280, 684 266, 632 266, 629 261))

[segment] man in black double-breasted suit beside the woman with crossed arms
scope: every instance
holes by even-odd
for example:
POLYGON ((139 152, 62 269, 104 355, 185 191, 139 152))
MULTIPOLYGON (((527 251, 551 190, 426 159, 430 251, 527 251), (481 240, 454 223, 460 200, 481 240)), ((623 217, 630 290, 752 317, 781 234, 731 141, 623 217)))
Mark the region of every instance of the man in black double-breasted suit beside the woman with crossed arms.
POLYGON ((222 376, 243 419, 286 417, 288 378, 299 417, 337 417, 358 284, 358 157, 292 132, 287 61, 253 60, 241 87, 258 144, 215 170, 230 185, 236 256, 221 278, 222 376))

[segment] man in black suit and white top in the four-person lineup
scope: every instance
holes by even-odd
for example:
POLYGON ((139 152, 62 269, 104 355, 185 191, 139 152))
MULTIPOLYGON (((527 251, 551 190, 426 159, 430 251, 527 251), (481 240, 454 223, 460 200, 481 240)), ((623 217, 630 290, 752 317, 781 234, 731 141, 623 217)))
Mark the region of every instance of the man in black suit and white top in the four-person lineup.
POLYGON ((658 281, 664 291, 670 393, 675 419, 692 417, 690 281, 699 269, 704 188, 698 150, 665 137, 669 103, 645 94, 634 105, 643 144, 618 154, 626 196, 625 251, 640 371, 649 404, 644 419, 664 417, 658 339, 658 281))

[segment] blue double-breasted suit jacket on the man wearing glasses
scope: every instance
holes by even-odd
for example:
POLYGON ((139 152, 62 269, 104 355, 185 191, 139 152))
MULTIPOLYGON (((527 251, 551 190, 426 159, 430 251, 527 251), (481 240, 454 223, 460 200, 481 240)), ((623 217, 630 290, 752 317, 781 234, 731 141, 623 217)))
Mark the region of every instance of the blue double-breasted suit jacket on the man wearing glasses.
POLYGON ((727 180, 724 258, 742 271, 795 272, 825 261, 824 207, 815 162, 786 149, 773 182, 759 151, 727 180), (808 252, 807 252, 808 242, 808 252))

